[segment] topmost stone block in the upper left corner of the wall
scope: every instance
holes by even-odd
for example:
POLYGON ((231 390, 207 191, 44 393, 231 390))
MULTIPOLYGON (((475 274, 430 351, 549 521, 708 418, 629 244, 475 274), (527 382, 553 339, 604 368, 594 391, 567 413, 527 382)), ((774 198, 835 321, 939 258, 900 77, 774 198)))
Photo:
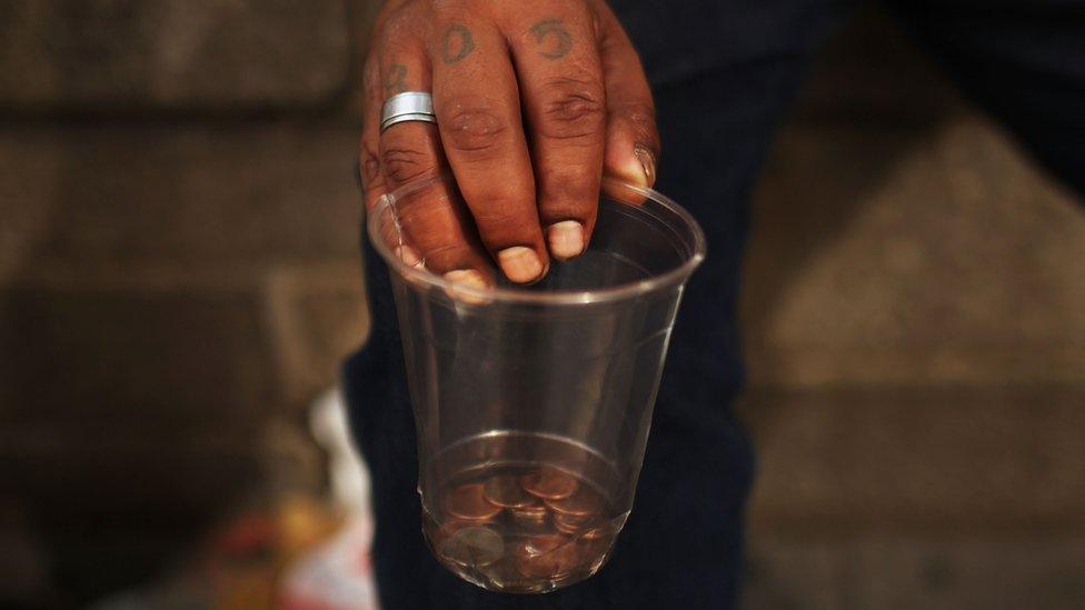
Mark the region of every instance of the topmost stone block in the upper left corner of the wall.
POLYGON ((351 78, 348 28, 342 0, 8 0, 0 107, 322 104, 351 78))

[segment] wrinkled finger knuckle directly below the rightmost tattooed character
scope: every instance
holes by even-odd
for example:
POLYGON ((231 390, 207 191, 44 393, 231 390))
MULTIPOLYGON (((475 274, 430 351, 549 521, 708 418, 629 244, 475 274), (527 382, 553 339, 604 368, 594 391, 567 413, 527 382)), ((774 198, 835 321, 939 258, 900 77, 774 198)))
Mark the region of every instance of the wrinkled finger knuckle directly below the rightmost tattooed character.
POLYGON ((547 138, 573 139, 601 134, 606 126, 603 86, 561 79, 547 83, 540 99, 539 131, 547 138))

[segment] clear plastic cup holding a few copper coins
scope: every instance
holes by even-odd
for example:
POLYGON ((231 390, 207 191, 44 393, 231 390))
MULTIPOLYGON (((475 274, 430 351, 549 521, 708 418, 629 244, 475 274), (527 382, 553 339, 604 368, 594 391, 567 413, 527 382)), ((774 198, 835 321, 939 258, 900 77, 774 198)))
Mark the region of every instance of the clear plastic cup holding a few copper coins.
POLYGON ((683 287, 705 256, 674 201, 603 190, 587 251, 529 287, 452 284, 398 258, 422 251, 412 236, 435 206, 462 204, 450 178, 405 186, 369 216, 392 270, 424 533, 438 561, 492 591, 553 591, 609 557, 683 287))

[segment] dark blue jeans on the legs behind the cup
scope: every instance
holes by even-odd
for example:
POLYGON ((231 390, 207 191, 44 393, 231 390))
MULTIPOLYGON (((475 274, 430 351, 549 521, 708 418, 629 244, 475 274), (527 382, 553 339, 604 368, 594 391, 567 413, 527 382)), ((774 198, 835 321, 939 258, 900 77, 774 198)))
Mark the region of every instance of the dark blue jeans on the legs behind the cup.
MULTIPOLYGON (((747 201, 812 52, 848 3, 615 4, 655 91, 664 141, 657 188, 694 213, 709 243, 675 327, 633 513, 597 576, 546 596, 484 591, 430 557, 420 533, 415 428, 388 271, 367 243, 374 330, 365 349, 346 362, 344 383, 358 446, 372 469, 372 553, 386 610, 719 610, 737 603, 743 510, 754 464, 730 410, 743 384, 735 310, 747 201)), ((965 90, 1078 191, 1085 190, 1083 6, 893 4, 965 90)))

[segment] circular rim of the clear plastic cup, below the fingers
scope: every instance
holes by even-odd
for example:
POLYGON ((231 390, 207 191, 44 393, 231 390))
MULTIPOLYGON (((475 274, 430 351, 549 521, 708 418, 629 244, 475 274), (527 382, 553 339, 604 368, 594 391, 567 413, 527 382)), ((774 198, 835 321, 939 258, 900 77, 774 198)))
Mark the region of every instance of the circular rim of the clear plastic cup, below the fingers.
MULTIPOLYGON (((396 257, 396 254, 391 251, 389 246, 386 244, 382 239, 380 239, 380 228, 378 227, 379 219, 384 213, 388 213, 388 211, 391 211, 392 213, 395 212, 396 201, 428 186, 431 186, 435 182, 446 180, 452 180, 452 177, 448 174, 437 174, 430 178, 415 180, 389 193, 384 194, 377 200, 374 208, 368 211, 366 217, 366 227, 369 241, 372 243, 374 249, 378 254, 380 254, 380 258, 385 259, 385 262, 387 262, 389 267, 396 270, 399 276, 412 282, 442 289, 446 293, 455 293, 462 297, 462 300, 468 302, 476 301, 487 304, 494 302, 507 302, 540 306, 575 306, 620 301, 639 297, 671 284, 681 283, 690 274, 693 274, 694 270, 697 269, 697 267, 700 266, 701 261, 705 259, 705 253, 707 250, 705 233, 697 220, 685 208, 676 203, 669 197, 654 189, 638 187, 616 178, 604 177, 604 184, 625 189, 638 197, 650 199, 675 213, 679 220, 686 223, 690 229, 690 233, 693 234, 691 254, 678 267, 675 267, 674 269, 658 276, 653 276, 635 282, 620 283, 617 286, 609 286, 606 288, 597 288, 591 290, 553 290, 540 292, 524 288, 476 288, 464 286, 461 283, 455 283, 446 280, 444 277, 438 276, 437 273, 434 273, 432 271, 429 271, 428 269, 411 267, 399 260, 399 258, 396 257)), ((498 270, 498 272, 500 272, 500 270, 498 270)))

